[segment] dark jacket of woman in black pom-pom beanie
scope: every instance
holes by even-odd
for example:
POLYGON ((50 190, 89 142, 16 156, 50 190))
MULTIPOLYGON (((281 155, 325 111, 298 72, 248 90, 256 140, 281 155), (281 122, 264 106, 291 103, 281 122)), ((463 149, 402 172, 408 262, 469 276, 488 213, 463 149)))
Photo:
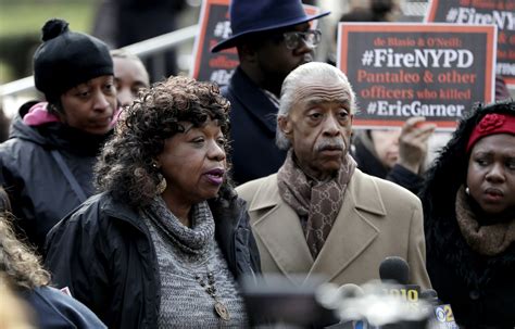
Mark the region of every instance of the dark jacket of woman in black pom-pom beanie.
MULTIPOLYGON (((22 106, 23 115, 36 102, 22 106)), ((81 201, 52 156, 58 150, 72 175, 90 197, 96 156, 106 136, 93 136, 61 123, 27 126, 14 119, 10 139, 0 144, 2 185, 11 198, 17 229, 42 253, 47 232, 81 201)))

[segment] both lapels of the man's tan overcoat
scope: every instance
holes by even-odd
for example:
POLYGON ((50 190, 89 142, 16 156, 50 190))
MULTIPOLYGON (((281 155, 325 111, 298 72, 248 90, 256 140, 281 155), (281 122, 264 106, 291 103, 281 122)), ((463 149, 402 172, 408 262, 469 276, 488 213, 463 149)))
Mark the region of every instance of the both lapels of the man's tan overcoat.
POLYGON ((301 284, 321 276, 332 280, 377 239, 379 229, 370 217, 385 216, 386 207, 374 180, 360 169, 349 182, 340 213, 316 261, 311 256, 299 216, 279 195, 277 176, 269 177, 249 204, 251 217, 256 218, 252 229, 292 282, 301 284))

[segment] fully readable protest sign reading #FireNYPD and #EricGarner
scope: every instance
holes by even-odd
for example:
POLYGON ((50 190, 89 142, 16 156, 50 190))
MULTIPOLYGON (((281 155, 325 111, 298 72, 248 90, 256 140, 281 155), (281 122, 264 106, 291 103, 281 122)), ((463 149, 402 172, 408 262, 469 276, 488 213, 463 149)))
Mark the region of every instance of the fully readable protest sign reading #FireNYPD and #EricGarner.
POLYGON ((361 109, 354 127, 400 127, 425 116, 450 130, 475 102, 493 100, 493 25, 340 23, 338 29, 338 67, 361 109))

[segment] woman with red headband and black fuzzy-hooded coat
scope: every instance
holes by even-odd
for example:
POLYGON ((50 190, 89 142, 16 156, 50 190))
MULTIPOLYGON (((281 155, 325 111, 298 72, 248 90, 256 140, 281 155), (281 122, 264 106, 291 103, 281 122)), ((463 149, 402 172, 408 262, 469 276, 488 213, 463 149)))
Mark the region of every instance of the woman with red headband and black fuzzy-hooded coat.
POLYGON ((420 191, 427 269, 461 328, 515 326, 515 102, 460 123, 420 191))

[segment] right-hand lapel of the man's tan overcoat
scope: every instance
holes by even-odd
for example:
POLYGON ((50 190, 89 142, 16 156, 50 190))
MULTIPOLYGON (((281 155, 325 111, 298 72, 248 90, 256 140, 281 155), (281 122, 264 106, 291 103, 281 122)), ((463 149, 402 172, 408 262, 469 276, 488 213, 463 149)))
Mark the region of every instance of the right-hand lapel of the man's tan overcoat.
POLYGON ((386 215, 386 210, 376 185, 356 169, 310 276, 324 275, 330 281, 366 250, 379 235, 379 229, 367 219, 370 213, 386 215))

